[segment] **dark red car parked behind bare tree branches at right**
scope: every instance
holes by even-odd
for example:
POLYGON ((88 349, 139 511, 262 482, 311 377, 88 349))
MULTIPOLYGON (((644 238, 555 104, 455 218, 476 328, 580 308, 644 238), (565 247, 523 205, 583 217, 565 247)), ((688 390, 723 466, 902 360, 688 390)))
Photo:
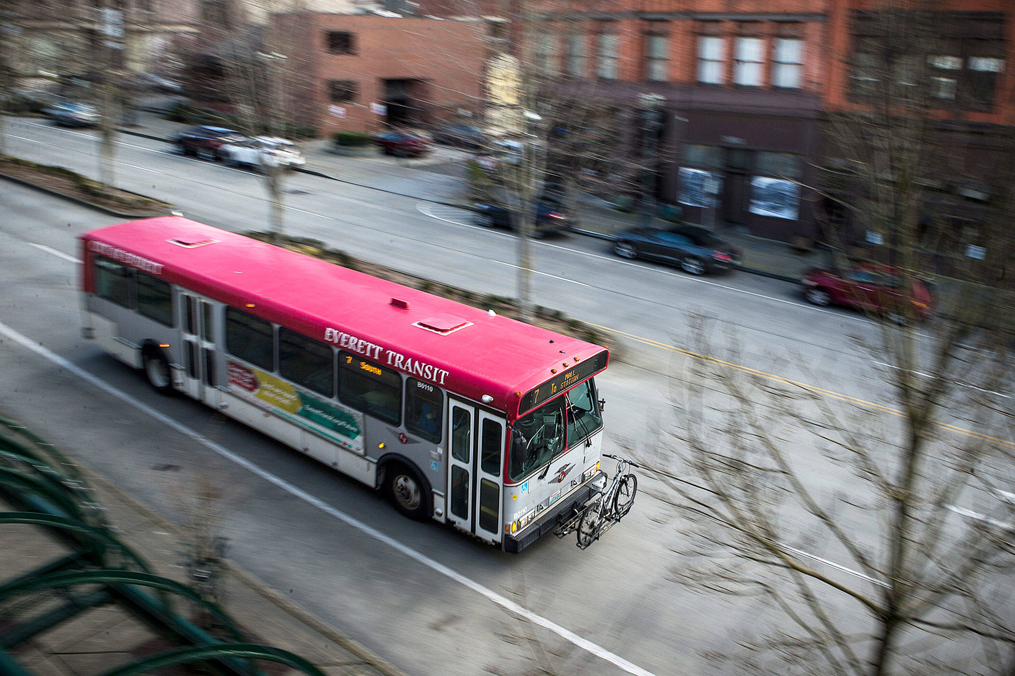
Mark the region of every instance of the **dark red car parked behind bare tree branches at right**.
MULTIPOLYGON (((931 292, 920 280, 909 279, 912 312, 919 319, 926 319, 931 313, 931 292)), ((843 305, 900 317, 905 315, 900 307, 905 284, 906 277, 895 269, 880 266, 861 266, 841 273, 816 269, 808 271, 803 279, 804 298, 814 305, 843 305)))

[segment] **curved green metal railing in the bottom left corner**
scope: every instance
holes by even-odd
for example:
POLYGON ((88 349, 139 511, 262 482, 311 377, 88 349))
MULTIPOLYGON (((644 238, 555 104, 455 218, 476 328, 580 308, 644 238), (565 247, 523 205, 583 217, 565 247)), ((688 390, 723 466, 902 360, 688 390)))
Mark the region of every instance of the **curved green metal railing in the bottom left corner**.
POLYGON ((220 674, 263 676, 252 660, 275 662, 310 676, 324 676, 313 664, 286 651, 247 642, 231 617, 198 591, 153 574, 107 523, 94 491, 77 465, 23 426, 0 417, 0 498, 14 511, 0 512, 0 527, 46 529, 69 552, 16 578, 0 581, 0 613, 17 600, 59 592, 62 605, 0 629, 0 673, 35 676, 12 651, 81 612, 116 603, 178 647, 138 659, 101 676, 143 674, 173 665, 201 663, 220 674), (154 595, 145 590, 150 589, 154 595), (214 618, 222 641, 179 615, 178 598, 214 618))

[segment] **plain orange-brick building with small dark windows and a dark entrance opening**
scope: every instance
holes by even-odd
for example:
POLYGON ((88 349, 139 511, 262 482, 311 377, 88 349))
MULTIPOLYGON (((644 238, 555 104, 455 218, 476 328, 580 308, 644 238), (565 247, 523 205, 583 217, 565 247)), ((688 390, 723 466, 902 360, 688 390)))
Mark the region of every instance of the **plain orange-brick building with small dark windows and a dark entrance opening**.
POLYGON ((483 21, 301 13, 273 25, 297 122, 322 135, 436 124, 481 107, 483 21))

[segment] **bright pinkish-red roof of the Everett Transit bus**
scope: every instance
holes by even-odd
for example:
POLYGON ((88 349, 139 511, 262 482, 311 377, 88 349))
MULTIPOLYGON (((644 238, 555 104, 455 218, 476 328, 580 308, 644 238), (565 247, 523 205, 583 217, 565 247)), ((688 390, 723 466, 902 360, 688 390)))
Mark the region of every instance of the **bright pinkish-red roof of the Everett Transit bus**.
MULTIPOLYGON (((513 415, 520 394, 550 380, 563 389, 606 366, 605 356, 593 360, 600 346, 179 216, 81 239, 86 261, 105 255, 452 392, 489 395, 513 415), (590 360, 601 367, 590 371, 590 360), (579 364, 581 379, 565 379, 579 364)), ((83 283, 94 290, 89 265, 83 283)))

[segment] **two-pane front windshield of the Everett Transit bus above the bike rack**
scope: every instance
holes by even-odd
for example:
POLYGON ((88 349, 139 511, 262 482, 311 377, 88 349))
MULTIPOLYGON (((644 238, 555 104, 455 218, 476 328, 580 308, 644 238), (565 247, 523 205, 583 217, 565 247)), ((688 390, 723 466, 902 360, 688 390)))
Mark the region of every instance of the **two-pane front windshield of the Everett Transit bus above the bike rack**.
POLYGON ((519 481, 603 427, 596 386, 585 381, 515 421, 507 478, 519 481), (564 410, 567 410, 565 418, 564 410))

